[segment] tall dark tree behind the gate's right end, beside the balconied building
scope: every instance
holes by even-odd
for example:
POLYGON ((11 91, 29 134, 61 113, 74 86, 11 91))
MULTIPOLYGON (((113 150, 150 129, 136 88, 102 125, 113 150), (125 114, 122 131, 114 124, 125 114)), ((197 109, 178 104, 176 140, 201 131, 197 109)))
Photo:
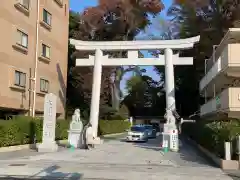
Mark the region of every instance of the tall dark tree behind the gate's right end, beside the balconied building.
POLYGON ((175 29, 173 38, 201 36, 194 49, 180 52, 181 56, 193 56, 194 65, 175 68, 180 114, 190 115, 199 110, 202 99, 198 89, 204 76, 204 60, 212 56, 213 45, 220 43, 228 28, 238 26, 239 12, 237 0, 178 0, 168 10, 175 29))

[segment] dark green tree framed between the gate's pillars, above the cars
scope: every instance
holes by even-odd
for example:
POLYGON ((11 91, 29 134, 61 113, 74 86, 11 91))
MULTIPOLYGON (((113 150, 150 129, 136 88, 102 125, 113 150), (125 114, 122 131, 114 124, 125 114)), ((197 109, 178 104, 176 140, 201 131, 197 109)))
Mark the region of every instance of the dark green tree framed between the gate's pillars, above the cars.
POLYGON ((163 115, 165 97, 160 96, 162 86, 151 77, 132 76, 127 81, 126 90, 128 95, 123 103, 128 106, 131 116, 163 115))

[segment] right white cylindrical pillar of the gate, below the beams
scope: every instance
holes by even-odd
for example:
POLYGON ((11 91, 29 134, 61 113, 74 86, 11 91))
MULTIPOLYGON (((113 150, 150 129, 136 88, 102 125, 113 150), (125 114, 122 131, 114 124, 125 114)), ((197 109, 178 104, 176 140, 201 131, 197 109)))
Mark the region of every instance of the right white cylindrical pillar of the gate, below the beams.
POLYGON ((174 66, 173 51, 165 49, 165 92, 166 92, 166 108, 176 109, 175 104, 175 85, 174 85, 174 66))

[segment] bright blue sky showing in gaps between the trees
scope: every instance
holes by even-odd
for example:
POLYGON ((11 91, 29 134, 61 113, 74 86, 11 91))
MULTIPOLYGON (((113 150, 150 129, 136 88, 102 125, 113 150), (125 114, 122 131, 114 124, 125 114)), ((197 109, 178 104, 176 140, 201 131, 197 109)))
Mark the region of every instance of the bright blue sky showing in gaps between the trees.
MULTIPOLYGON (((97 5, 98 0, 70 0, 70 9, 76 12, 82 12, 85 8, 95 6, 97 5)), ((161 16, 163 18, 166 17, 166 10, 168 7, 172 4, 172 0, 163 0, 163 3, 165 5, 165 10, 161 12, 161 16)), ((151 31, 151 27, 149 27, 149 30, 151 31)), ((144 66, 147 70, 147 75, 151 76, 154 80, 160 80, 159 76, 154 72, 152 66, 144 66)), ((131 77, 132 73, 126 73, 123 77, 123 81, 121 82, 121 89, 124 90, 126 80, 131 77)))

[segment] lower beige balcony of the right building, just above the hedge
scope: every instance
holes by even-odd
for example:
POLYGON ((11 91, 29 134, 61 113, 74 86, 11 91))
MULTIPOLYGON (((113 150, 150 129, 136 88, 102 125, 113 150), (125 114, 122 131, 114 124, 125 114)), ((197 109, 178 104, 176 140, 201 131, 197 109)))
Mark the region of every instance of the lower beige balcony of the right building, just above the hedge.
POLYGON ((229 118, 240 117, 240 87, 225 89, 215 98, 202 105, 201 116, 224 116, 229 118))

